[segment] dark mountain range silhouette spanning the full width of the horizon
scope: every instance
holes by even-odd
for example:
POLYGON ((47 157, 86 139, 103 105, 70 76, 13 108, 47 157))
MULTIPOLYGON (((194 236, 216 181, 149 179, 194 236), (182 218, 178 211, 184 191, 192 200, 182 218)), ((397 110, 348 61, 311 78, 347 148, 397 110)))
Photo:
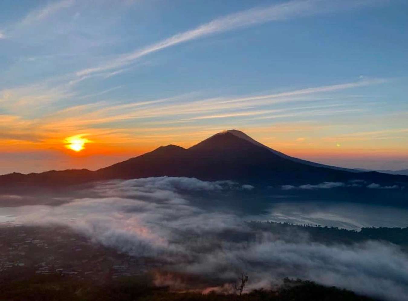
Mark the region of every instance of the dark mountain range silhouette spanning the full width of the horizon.
POLYGON ((408 176, 364 172, 327 166, 280 153, 237 130, 217 133, 190 147, 161 146, 149 153, 91 171, 51 170, 0 176, 0 188, 61 187, 108 179, 144 177, 195 177, 202 180, 235 180, 257 185, 316 184, 355 179, 384 185, 408 183, 408 176))

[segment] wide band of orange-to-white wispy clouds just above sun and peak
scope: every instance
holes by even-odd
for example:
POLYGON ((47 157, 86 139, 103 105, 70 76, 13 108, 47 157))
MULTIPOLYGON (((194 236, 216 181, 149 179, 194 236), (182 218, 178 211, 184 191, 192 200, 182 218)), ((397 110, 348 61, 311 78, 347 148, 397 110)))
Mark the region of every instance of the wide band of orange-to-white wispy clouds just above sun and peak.
MULTIPOLYGON (((375 82, 376 81, 373 83, 375 82)), ((366 85, 368 82, 363 84, 366 85)), ((111 141, 129 141, 129 133, 132 131, 134 133, 135 129, 141 125, 154 131, 160 131, 160 129, 157 129, 157 126, 160 124, 167 124, 168 127, 171 124, 180 122, 195 122, 200 120, 204 122, 208 122, 207 120, 222 120, 222 124, 226 126, 225 120, 233 119, 233 126, 236 126, 239 120, 245 122, 245 120, 291 118, 294 116, 312 117, 355 112, 360 110, 356 103, 353 103, 352 108, 347 109, 341 108, 344 107, 344 104, 341 103, 321 103, 322 101, 320 101, 321 104, 310 106, 291 105, 284 108, 274 108, 271 107, 271 105, 279 102, 293 102, 293 104, 295 104, 294 102, 303 102, 305 100, 316 101, 319 98, 309 98, 302 94, 313 95, 313 93, 319 93, 321 91, 327 92, 349 89, 359 85, 360 83, 345 83, 264 96, 247 96, 244 98, 218 97, 191 101, 191 99, 196 98, 197 95, 189 93, 170 98, 159 98, 156 100, 132 103, 113 104, 109 101, 98 101, 42 114, 41 118, 32 118, 27 114, 25 114, 27 115, 25 117, 19 116, 20 114, 18 112, 22 106, 35 106, 33 107, 34 110, 34 108, 40 108, 40 104, 46 105, 49 102, 62 98, 80 99, 104 95, 119 89, 120 86, 83 96, 70 95, 69 92, 64 89, 49 90, 41 85, 28 86, 4 90, 2 94, 0 94, 2 95, 0 96, 0 105, 14 112, 12 117, 4 118, 2 129, 8 133, 7 139, 22 139, 24 141, 44 141, 44 139, 49 139, 49 137, 52 136, 60 139, 60 136, 67 131, 77 133, 85 130, 103 137, 114 135, 115 137, 111 141), (246 101, 243 102, 243 99, 246 101), (157 118, 160 118, 160 121, 158 121, 157 118), (137 124, 132 126, 128 124, 126 126, 127 129, 123 129, 123 122, 126 122, 126 120, 138 121, 137 124), (19 131, 16 131, 16 129, 19 129, 19 131), (121 137, 124 138, 122 139, 121 137)), ((30 110, 28 113, 31 114, 33 110, 30 110)), ((151 136, 153 137, 154 135, 151 136)), ((138 139, 141 137, 142 136, 139 135, 138 139)))

